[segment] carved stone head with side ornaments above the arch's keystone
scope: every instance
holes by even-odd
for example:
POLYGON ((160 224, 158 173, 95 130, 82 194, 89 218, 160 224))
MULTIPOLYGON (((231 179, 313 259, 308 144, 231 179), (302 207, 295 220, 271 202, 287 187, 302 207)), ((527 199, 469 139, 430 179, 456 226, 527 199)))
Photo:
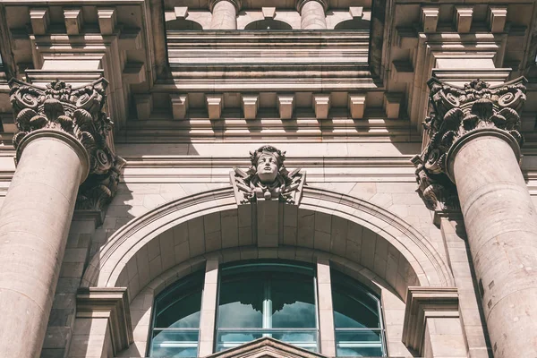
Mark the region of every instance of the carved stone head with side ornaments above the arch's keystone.
POLYGON ((250 152, 250 160, 248 171, 234 167, 229 173, 237 204, 278 200, 298 205, 306 174, 300 168, 287 171, 285 151, 265 145, 250 152))

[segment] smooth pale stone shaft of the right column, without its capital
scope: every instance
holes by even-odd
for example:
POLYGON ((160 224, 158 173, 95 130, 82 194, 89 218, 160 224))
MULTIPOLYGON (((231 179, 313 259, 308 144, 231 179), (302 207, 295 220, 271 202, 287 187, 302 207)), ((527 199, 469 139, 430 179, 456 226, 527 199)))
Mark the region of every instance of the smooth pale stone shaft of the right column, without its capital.
POLYGON ((509 137, 484 131, 462 139, 451 171, 494 356, 534 357, 537 212, 512 149, 517 144, 509 137))

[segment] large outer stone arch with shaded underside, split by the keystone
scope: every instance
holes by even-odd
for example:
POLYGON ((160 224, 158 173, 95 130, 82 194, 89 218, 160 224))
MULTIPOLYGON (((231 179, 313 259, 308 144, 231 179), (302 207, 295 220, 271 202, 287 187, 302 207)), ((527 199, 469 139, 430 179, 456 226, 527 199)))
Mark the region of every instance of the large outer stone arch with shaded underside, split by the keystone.
MULTIPOLYGON (((408 286, 453 285, 429 241, 386 209, 306 187, 300 206, 284 210, 278 252, 301 247, 346 257, 385 279, 403 299, 408 286)), ((193 257, 232 247, 247 256, 257 246, 251 225, 251 206, 237 207, 230 187, 168 202, 119 229, 90 261, 82 286, 127 286, 132 298, 193 257)))

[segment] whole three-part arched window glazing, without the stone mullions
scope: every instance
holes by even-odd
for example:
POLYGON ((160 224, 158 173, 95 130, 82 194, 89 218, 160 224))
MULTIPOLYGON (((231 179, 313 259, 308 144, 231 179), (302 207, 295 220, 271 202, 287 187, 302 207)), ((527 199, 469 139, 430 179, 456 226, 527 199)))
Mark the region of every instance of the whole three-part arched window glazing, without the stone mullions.
MULTIPOLYGON (((379 297, 334 270, 330 280, 337 356, 386 356, 379 297)), ((292 261, 240 261, 219 268, 214 351, 261 337, 320 352, 317 273, 292 261)), ((155 299, 149 356, 196 357, 203 272, 155 299)))

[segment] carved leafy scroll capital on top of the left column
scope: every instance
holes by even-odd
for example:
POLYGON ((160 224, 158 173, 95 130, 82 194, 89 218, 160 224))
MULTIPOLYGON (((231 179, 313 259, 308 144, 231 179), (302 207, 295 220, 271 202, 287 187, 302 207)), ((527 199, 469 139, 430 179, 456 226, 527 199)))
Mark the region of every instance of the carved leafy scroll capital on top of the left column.
MULTIPOLYGON (((19 147, 30 132, 40 129, 68 133, 81 142, 90 157, 90 174, 79 188, 77 209, 102 209, 115 195, 124 159, 108 144, 112 121, 104 112, 108 82, 101 78, 72 89, 64 81, 53 81, 42 90, 29 83, 10 81, 10 98, 20 132, 13 136, 19 147)), ((18 158, 17 158, 18 159, 18 158)))

